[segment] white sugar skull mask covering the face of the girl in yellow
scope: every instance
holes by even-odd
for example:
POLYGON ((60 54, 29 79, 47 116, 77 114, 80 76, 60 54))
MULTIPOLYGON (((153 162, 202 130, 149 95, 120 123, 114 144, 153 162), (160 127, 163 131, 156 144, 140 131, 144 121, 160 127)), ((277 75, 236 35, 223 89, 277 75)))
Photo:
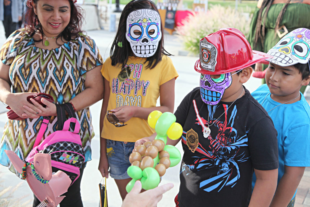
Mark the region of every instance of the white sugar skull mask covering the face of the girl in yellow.
POLYGON ((159 13, 153 9, 138 9, 127 17, 126 39, 138 57, 153 56, 162 38, 159 13))

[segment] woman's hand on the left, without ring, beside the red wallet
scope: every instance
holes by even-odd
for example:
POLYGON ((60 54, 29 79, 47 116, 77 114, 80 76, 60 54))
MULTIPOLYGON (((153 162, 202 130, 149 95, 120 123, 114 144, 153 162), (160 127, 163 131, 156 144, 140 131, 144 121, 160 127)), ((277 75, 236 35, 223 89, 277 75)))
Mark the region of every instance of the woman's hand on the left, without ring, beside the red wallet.
MULTIPOLYGON (((10 108, 22 118, 32 118, 36 119, 39 116, 36 113, 29 113, 24 106, 30 108, 33 106, 31 103, 27 101, 27 97, 34 95, 35 93, 31 92, 23 92, 23 93, 9 93, 6 97, 6 104, 10 106, 10 108)), ((38 109, 37 109, 38 110, 38 109)), ((38 111, 39 112, 39 111, 38 111)))

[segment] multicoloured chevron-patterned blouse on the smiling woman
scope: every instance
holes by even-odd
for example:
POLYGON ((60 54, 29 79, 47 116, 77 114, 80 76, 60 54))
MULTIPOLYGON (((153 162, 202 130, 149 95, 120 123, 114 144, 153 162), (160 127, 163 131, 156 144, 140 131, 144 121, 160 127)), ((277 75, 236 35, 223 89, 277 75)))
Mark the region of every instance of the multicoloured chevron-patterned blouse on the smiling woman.
MULTIPOLYGON (((12 92, 43 92, 58 104, 70 101, 84 90, 86 72, 103 64, 95 41, 86 35, 58 48, 46 50, 35 46, 25 29, 16 30, 0 50, 3 64, 10 65, 12 92)), ((94 136, 89 108, 76 112, 81 124, 80 136, 86 161, 91 160, 91 138, 94 136)), ((7 120, 0 143, 0 164, 15 172, 4 150, 12 150, 24 160, 37 137, 43 117, 7 120)), ((57 116, 52 116, 44 137, 57 130, 57 116)))

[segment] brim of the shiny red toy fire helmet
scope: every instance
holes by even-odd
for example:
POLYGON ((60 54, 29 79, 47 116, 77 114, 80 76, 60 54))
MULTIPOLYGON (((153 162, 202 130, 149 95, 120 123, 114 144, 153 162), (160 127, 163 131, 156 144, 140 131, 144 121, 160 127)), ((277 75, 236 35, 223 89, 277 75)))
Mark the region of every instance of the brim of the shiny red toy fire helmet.
POLYGON ((258 63, 262 60, 268 59, 268 58, 272 58, 271 55, 268 55, 264 52, 259 52, 256 50, 253 50, 253 59, 249 60, 248 62, 246 62, 243 65, 240 65, 238 67, 233 67, 233 68, 229 68, 229 69, 220 69, 218 71, 208 71, 205 70, 203 68, 201 68, 200 66, 200 60, 198 59, 194 65, 194 69, 198 72, 198 73, 202 73, 202 74, 209 74, 209 75, 218 75, 218 74, 224 74, 224 73, 229 73, 229 72, 233 72, 233 71, 237 71, 237 70, 241 70, 243 68, 249 67, 251 65, 254 65, 255 63, 258 63))

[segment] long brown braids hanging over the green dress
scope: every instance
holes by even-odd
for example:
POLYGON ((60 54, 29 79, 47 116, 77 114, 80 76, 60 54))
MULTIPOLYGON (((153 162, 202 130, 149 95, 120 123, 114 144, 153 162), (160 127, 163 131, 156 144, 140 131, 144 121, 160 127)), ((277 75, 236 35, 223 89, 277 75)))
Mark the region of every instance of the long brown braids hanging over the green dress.
MULTIPOLYGON (((261 44, 262 44, 262 49, 264 49, 264 41, 265 41, 265 24, 266 24, 266 18, 268 11, 272 5, 272 2, 274 0, 264 0, 262 3, 262 6, 260 7, 258 11, 258 16, 257 16, 257 21, 256 21, 256 28, 255 28, 255 36, 254 36, 254 47, 257 45, 257 41, 260 39, 261 44), (266 8, 266 11, 264 15, 262 16, 263 10, 266 8), (262 25, 262 20, 264 24, 262 25)), ((284 12, 286 11, 286 8, 288 7, 289 3, 291 0, 287 0, 285 6, 282 8, 281 12, 279 13, 277 20, 276 20, 276 27, 274 29, 275 36, 277 34, 277 30, 280 27, 280 23, 282 21, 284 12)))

